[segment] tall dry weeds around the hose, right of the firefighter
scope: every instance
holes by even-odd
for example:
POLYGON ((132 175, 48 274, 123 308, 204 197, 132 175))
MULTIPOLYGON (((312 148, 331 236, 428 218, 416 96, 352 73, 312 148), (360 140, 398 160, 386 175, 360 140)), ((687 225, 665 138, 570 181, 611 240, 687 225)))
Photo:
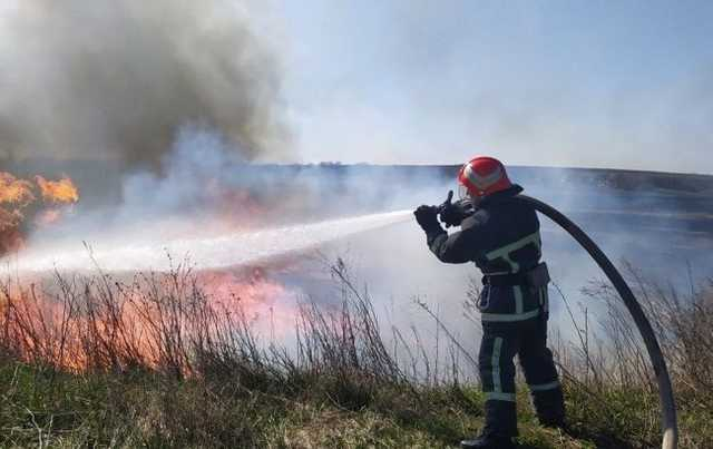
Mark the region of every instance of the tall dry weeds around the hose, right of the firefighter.
MULTIPOLYGON (((690 277, 687 292, 681 293, 680 286, 648 279, 628 263, 624 269, 668 365, 681 417, 681 447, 709 447, 713 445, 707 424, 713 418, 713 280, 696 285, 690 277)), ((576 342, 558 339, 555 351, 568 381, 573 414, 588 424, 604 422, 632 441, 654 445, 660 432, 657 384, 638 331, 609 283, 593 281, 583 293, 593 301, 598 319, 593 325, 589 311, 580 305, 577 320, 561 295, 576 342)))

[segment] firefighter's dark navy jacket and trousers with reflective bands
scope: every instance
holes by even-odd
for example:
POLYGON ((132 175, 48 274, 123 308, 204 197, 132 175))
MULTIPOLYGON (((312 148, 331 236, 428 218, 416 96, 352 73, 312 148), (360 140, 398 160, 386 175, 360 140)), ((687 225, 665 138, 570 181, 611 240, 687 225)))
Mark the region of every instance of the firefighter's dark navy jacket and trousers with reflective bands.
POLYGON ((520 192, 514 185, 484 197, 459 232, 426 230, 428 245, 440 261, 473 262, 484 273, 478 308, 484 328, 479 371, 486 393, 485 432, 505 437, 517 433, 515 355, 540 421, 556 424, 564 419, 561 389, 547 349, 547 285, 528 285, 524 276, 540 262, 539 221, 534 208, 509 201, 520 192))

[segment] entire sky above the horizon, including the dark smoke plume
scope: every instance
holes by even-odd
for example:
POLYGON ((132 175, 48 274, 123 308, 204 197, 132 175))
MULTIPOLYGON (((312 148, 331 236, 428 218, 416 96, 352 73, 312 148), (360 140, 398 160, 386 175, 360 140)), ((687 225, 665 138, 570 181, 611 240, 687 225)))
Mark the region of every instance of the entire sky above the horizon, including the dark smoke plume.
POLYGON ((250 160, 713 174, 713 1, 0 0, 0 159, 156 167, 187 120, 250 160))

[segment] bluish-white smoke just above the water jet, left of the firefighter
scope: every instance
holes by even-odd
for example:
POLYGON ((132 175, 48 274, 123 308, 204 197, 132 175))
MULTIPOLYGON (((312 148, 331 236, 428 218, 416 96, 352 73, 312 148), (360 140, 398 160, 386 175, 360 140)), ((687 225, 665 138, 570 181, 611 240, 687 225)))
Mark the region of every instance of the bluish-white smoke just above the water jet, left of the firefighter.
POLYGON ((74 241, 81 250, 82 241, 117 236, 134 243, 215 237, 411 209, 420 201, 442 201, 452 184, 427 167, 247 164, 241 153, 214 130, 182 127, 160 159, 160 173, 123 174, 117 198, 80 201, 70 217, 31 241, 74 241))

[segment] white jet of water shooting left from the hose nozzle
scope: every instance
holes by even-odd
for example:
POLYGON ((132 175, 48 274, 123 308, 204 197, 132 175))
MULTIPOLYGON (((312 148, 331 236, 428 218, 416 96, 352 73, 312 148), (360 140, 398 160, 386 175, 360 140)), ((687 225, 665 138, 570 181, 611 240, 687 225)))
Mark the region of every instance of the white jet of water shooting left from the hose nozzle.
MULTIPOLYGON (((410 211, 328 219, 207 238, 183 238, 158 243, 107 244, 101 236, 85 245, 70 242, 61 247, 28 248, 18 254, 12 269, 19 272, 169 271, 168 257, 187 257, 198 269, 226 269, 252 264, 290 253, 309 251, 324 243, 410 219, 410 211)), ((110 236, 116 241, 117 236, 110 236)), ((129 238, 124 240, 129 241, 129 238)))

